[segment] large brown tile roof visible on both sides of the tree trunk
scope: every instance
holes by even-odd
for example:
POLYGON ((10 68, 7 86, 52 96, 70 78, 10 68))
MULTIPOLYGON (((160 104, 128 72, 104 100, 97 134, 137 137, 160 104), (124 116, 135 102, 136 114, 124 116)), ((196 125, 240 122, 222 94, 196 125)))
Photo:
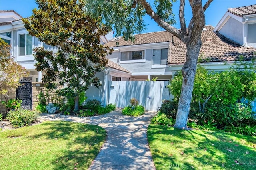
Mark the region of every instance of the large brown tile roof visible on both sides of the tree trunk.
MULTIPOLYGON (((212 26, 205 26, 201 35, 202 47, 200 57, 202 62, 236 61, 240 55, 244 60, 256 58, 256 49, 253 47, 243 47, 241 44, 213 31, 212 26)), ((186 61, 186 45, 177 37, 173 37, 170 42, 171 53, 168 56, 168 64, 183 64, 186 61)))

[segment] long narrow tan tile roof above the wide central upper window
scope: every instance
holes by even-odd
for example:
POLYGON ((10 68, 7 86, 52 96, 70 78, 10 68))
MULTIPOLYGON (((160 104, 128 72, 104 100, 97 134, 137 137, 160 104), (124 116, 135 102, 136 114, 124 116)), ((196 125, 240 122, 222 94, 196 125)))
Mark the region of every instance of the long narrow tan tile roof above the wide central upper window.
POLYGON ((123 38, 119 38, 119 45, 116 45, 116 38, 110 40, 108 43, 105 43, 104 46, 108 47, 117 47, 117 46, 128 46, 128 45, 140 45, 140 44, 148 44, 148 43, 159 43, 159 42, 169 42, 172 34, 166 31, 159 32, 150 32, 144 34, 136 34, 135 41, 125 41, 123 38))

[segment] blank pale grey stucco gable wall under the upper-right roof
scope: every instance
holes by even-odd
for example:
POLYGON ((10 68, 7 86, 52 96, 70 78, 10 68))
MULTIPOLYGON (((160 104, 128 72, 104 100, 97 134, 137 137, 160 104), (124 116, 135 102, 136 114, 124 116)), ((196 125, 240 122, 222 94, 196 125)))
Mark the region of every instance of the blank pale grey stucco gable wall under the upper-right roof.
POLYGON ((238 22, 234 18, 229 18, 219 32, 224 36, 243 44, 243 30, 242 23, 238 22))

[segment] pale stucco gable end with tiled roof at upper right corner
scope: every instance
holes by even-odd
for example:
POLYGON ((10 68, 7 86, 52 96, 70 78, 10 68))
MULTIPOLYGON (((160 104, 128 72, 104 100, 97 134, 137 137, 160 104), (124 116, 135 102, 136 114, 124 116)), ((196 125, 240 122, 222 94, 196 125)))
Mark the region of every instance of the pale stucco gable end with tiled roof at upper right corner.
POLYGON ((256 48, 256 5, 228 8, 214 31, 244 46, 256 48))

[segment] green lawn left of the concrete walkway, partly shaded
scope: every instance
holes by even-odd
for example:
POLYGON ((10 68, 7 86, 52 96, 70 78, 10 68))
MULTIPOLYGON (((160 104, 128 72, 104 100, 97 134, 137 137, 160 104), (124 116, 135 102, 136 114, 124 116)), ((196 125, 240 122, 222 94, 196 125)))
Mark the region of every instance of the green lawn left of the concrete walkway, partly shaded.
POLYGON ((0 169, 87 169, 106 139, 96 125, 45 121, 0 132, 0 169))

